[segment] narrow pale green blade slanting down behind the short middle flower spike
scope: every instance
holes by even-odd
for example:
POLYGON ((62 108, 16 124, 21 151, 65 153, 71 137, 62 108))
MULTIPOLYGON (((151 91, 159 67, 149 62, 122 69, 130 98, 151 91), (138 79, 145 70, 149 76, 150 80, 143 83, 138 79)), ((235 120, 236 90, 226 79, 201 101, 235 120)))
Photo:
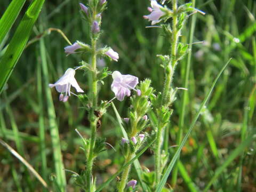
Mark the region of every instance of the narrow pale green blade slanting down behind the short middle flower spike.
MULTIPOLYGON (((123 125, 122 125, 122 118, 121 118, 121 116, 119 115, 118 111, 116 110, 116 106, 114 105, 113 102, 111 102, 111 106, 113 107, 113 109, 114 109, 114 111, 115 111, 115 114, 116 114, 116 117, 117 117, 117 121, 118 121, 118 124, 119 124, 119 126, 120 126, 120 128, 121 128, 121 131, 122 131, 122 133, 123 133, 123 136, 124 136, 125 139, 128 140, 129 138, 127 137, 127 133, 126 133, 126 131, 125 131, 123 125)), ((135 159, 133 165, 134 165, 134 167, 135 167, 135 170, 136 170, 138 179, 139 179, 139 181, 140 181, 140 183, 141 183, 141 187, 142 187, 143 191, 145 191, 145 192, 148 191, 148 190, 147 190, 147 187, 146 187, 146 185, 145 185, 145 183, 143 183, 143 181, 142 181, 141 166, 140 166, 139 160, 138 160, 138 159, 135 159)))

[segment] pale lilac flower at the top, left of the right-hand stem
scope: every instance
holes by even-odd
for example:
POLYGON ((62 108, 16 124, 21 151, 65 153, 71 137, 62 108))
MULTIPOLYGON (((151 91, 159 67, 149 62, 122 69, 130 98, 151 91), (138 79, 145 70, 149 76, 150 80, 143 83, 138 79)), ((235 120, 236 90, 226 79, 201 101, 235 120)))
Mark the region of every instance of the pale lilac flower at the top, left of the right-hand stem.
POLYGON ((148 7, 148 11, 151 13, 149 15, 144 15, 144 19, 148 19, 151 22, 151 25, 155 25, 156 23, 161 21, 161 17, 165 14, 161 9, 164 7, 159 5, 157 1, 152 0, 151 1, 151 7, 148 7))

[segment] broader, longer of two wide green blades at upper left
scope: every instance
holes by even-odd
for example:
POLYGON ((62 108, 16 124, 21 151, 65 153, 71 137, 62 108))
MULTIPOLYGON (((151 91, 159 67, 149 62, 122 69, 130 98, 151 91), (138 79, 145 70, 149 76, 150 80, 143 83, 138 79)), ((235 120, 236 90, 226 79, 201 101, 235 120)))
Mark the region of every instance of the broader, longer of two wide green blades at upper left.
POLYGON ((35 0, 30 4, 0 61, 0 94, 26 46, 43 4, 44 0, 35 0))

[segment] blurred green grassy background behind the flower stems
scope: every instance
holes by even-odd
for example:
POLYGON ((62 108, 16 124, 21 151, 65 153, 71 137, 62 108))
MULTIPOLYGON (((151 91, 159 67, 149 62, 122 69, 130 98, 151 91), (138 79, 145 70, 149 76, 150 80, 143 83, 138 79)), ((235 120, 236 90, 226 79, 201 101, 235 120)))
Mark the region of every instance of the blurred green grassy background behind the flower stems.
MULTIPOLYGON (((38 37, 49 28, 63 31, 71 43, 76 40, 89 43, 89 28, 81 19, 79 4, 86 1, 46 1, 42 12, 33 28, 30 39, 38 37)), ((187 1, 179 1, 183 4, 187 1)), ((0 16, 4 13, 10 1, 0 2, 0 16)), ((6 38, 5 44, 10 41, 15 28, 25 13, 29 1, 25 3, 19 18, 6 38)), ((145 28, 150 22, 143 19, 148 14, 147 0, 117 1, 108 0, 108 9, 102 14, 103 30, 100 43, 111 46, 119 53, 118 62, 105 59, 100 65, 106 65, 110 70, 121 71, 122 74, 138 76, 140 80, 150 78, 157 91, 162 90, 163 69, 157 54, 165 54, 170 49, 161 29, 145 28)), ((214 92, 207 104, 203 115, 196 124, 189 137, 189 141, 182 149, 181 162, 191 181, 187 180, 185 173, 179 173, 178 185, 174 191, 189 191, 188 183, 194 182, 199 189, 203 189, 212 178, 217 167, 229 156, 241 142, 242 131, 251 133, 255 130, 256 116, 254 113, 256 103, 256 2, 253 0, 197 0, 196 7, 206 13, 197 14, 194 41, 204 41, 193 45, 191 70, 189 76, 188 93, 185 117, 185 127, 191 123, 199 104, 209 90, 215 76, 221 67, 231 60, 230 65, 222 74, 215 86, 214 92)), ((189 25, 183 28, 181 41, 188 42, 189 25)), ((48 76, 51 83, 71 67, 79 66, 81 57, 78 54, 64 53, 63 47, 68 43, 56 31, 51 31, 42 37, 44 39, 45 57, 48 66, 48 76)), ((20 138, 21 150, 27 161, 42 173, 41 157, 39 153, 39 126, 46 129, 47 177, 50 183, 50 174, 54 173, 52 163, 52 146, 49 133, 49 121, 45 97, 45 77, 40 76, 42 65, 42 52, 39 42, 29 45, 22 53, 17 66, 7 82, 5 91, 0 96, 0 137, 14 149, 17 149, 16 134, 20 138), (38 86, 42 90, 38 90, 38 86), (4 131, 3 131, 4 130, 4 131)), ((0 57, 2 52, 0 52, 0 57)), ((84 59, 88 58, 86 55, 84 59)), ((174 86, 182 87, 187 58, 183 58, 175 71, 174 86)), ((99 66, 99 68, 101 67, 99 66)), ((1 73, 1 71, 0 71, 1 73)), ((77 71, 76 78, 85 92, 89 90, 89 78, 82 71, 77 71)), ((110 90, 111 77, 105 85, 101 86, 100 99, 110 100, 114 97, 110 90)), ((49 88, 50 89, 50 88, 49 88)), ((76 97, 71 97, 68 103, 58 101, 58 93, 51 90, 56 122, 59 127, 61 149, 65 168, 75 172, 85 169, 84 157, 79 146, 81 139, 74 131, 78 129, 84 137, 88 138, 90 131, 86 114, 76 97)), ((180 90, 174 102, 174 113, 171 118, 169 131, 170 146, 175 145, 178 132, 179 114, 181 110, 180 90)), ((122 117, 126 116, 126 109, 130 106, 129 99, 123 102, 114 101, 122 117)), ((146 131, 150 132, 149 126, 146 131)), ((185 129, 186 130, 186 129, 185 129)), ((103 182, 109 175, 115 173, 123 164, 123 157, 119 150, 119 140, 122 137, 112 108, 102 118, 102 126, 98 134, 107 138, 117 150, 109 148, 97 159, 94 173, 98 182, 103 182)), ((243 162, 236 158, 221 177, 214 183, 211 191, 256 191, 256 143, 244 151, 243 162), (239 188, 239 174, 242 175, 239 188)), ((173 148, 170 149, 174 152, 173 148)), ((150 150, 140 158, 143 166, 154 169, 153 154, 150 150)), ((42 191, 41 184, 25 171, 25 167, 5 148, 0 147, 0 191, 42 191)), ((71 179, 71 173, 66 172, 68 191, 79 191, 71 179)), ((131 175, 131 178, 135 178, 131 175)), ((108 190, 115 191, 115 182, 108 190)))

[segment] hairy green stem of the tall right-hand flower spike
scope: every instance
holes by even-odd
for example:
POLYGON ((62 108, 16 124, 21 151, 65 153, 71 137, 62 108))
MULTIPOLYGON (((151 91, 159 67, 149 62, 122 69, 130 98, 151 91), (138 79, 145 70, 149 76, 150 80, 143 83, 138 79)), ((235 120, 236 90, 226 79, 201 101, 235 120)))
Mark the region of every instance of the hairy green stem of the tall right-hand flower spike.
MULTIPOLYGON (((177 29, 178 23, 178 15, 177 15, 177 0, 172 1, 172 10, 173 10, 173 17, 172 17, 172 38, 171 38, 171 62, 166 68, 165 71, 165 84, 163 89, 163 98, 162 98, 162 106, 169 107, 170 105, 170 87, 172 83, 172 77, 174 68, 177 65, 177 46, 179 40, 179 33, 180 31, 177 29)), ((159 122, 159 121, 158 121, 159 122)), ((159 183, 161 179, 161 148, 163 143, 162 132, 165 127, 161 126, 162 122, 158 123, 157 127, 157 136, 156 136, 156 153, 155 153, 155 184, 159 183)))

